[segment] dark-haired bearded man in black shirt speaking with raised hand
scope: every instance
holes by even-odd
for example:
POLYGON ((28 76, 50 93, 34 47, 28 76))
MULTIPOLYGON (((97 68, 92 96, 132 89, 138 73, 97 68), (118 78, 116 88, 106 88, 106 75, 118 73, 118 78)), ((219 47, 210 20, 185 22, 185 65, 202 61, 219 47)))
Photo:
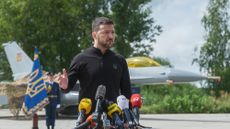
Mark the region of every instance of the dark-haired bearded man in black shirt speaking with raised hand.
POLYGON ((79 100, 94 100, 97 87, 106 86, 105 99, 116 102, 119 95, 130 99, 131 86, 125 59, 110 50, 115 40, 113 21, 106 17, 96 18, 92 23, 93 46, 76 55, 68 72, 59 78, 64 92, 70 91, 76 81, 80 82, 79 100))

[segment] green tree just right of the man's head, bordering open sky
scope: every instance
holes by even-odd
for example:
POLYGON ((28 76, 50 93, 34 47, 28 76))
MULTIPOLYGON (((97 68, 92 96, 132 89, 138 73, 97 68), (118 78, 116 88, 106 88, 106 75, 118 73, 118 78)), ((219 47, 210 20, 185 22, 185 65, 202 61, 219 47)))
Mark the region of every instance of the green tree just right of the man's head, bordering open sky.
POLYGON ((156 35, 162 32, 155 25, 147 4, 151 0, 113 0, 112 17, 116 23, 116 50, 125 57, 149 56, 156 35), (145 42, 143 42, 145 41, 145 42))

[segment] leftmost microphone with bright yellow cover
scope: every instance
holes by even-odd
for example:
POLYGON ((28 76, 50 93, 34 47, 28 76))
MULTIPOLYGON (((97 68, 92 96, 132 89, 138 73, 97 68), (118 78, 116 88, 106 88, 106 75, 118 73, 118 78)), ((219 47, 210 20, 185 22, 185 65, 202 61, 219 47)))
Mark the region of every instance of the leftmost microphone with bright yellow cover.
POLYGON ((85 120, 85 116, 89 114, 92 107, 92 101, 89 98, 81 99, 79 106, 78 106, 78 119, 76 125, 81 124, 85 120))

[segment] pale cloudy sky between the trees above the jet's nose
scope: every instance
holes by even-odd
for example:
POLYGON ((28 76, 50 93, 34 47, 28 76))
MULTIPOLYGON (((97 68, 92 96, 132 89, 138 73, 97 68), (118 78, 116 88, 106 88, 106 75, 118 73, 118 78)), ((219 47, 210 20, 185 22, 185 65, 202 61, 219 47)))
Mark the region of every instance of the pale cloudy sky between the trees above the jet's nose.
POLYGON ((192 65, 192 60, 199 54, 194 48, 204 43, 201 18, 207 5, 208 0, 153 0, 153 17, 163 32, 152 55, 169 59, 175 68, 199 73, 199 66, 192 65))

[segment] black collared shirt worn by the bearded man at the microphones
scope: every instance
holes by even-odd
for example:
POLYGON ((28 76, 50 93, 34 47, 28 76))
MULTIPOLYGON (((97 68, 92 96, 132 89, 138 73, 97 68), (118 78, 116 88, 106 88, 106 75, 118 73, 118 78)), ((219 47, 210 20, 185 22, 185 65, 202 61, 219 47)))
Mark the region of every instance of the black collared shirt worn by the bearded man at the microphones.
POLYGON ((95 98, 99 85, 106 86, 105 99, 116 102, 122 94, 131 96, 130 78, 125 59, 111 50, 105 54, 95 47, 90 47, 76 55, 68 70, 68 92, 76 81, 80 82, 79 98, 95 98))

